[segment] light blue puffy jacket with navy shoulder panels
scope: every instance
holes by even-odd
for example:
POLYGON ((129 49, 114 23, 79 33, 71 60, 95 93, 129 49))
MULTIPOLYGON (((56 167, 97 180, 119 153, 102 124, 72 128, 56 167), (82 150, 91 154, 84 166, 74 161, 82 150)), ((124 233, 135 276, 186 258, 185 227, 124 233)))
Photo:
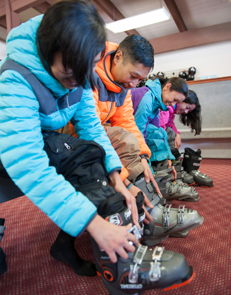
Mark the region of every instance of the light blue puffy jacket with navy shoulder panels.
MULTIPOLYGON (((35 37, 42 17, 37 16, 12 29, 7 36, 6 53, 7 58, 27 67, 58 99, 69 90, 49 75, 39 59, 35 37)), ((47 106, 49 103, 47 101, 47 106)), ((36 206, 63 231, 77 236, 86 229, 97 209, 49 166, 41 131, 56 130, 72 118, 81 139, 93 140, 105 149, 108 172, 120 170, 121 162, 96 116, 91 89, 84 89, 81 101, 70 108, 57 108, 50 114, 46 114, 46 110, 40 111, 40 103, 27 80, 14 70, 5 70, 0 76, 1 162, 12 180, 36 206)))

